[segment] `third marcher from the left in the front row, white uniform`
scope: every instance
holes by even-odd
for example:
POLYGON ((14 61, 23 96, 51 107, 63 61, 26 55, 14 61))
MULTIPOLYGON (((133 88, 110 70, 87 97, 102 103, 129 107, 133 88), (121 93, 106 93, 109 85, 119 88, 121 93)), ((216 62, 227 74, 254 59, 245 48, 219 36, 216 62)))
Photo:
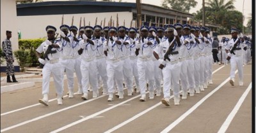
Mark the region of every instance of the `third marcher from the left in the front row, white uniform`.
POLYGON ((116 80, 118 88, 119 99, 124 99, 124 75, 123 75, 123 63, 120 57, 123 56, 122 44, 116 43, 117 29, 116 27, 109 27, 109 33, 107 41, 104 41, 104 54, 107 56, 107 74, 108 74, 108 101, 113 101, 114 93, 114 80, 116 80))

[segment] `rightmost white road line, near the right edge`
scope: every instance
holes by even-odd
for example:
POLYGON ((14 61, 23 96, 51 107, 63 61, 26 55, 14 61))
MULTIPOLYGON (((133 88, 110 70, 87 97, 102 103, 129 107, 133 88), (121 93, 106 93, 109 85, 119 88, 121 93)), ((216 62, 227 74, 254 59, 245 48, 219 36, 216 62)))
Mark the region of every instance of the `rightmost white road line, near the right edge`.
POLYGON ((233 118, 235 117, 237 111, 239 110, 239 108, 243 104, 244 99, 246 98, 246 96, 250 92, 251 88, 252 88, 252 82, 250 83, 248 88, 245 90, 243 95, 240 97, 239 101, 237 102, 236 106, 231 111, 231 113, 228 115, 228 117, 225 120, 225 122, 221 125, 220 130, 218 131, 218 133, 225 133, 226 132, 226 130, 228 129, 228 126, 230 125, 230 123, 232 122, 233 118))

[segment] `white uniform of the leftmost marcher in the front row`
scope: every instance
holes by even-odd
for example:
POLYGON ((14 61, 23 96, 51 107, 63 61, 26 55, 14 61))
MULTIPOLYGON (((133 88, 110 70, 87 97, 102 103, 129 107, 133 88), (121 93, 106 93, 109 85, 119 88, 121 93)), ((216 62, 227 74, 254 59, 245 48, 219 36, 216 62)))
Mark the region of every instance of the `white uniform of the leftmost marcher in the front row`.
MULTIPOLYGON (((54 41, 54 44, 59 45, 60 48, 52 48, 51 50, 56 50, 56 53, 49 53, 49 60, 45 59, 44 68, 42 70, 43 81, 42 81, 42 94, 49 94, 49 85, 51 74, 53 76, 54 85, 56 88, 56 93, 60 96, 63 95, 63 85, 62 85, 62 76, 61 76, 61 65, 59 62, 60 51, 61 51, 61 42, 54 41)), ((36 52, 43 53, 47 50, 48 45, 45 41, 36 49, 36 52)))

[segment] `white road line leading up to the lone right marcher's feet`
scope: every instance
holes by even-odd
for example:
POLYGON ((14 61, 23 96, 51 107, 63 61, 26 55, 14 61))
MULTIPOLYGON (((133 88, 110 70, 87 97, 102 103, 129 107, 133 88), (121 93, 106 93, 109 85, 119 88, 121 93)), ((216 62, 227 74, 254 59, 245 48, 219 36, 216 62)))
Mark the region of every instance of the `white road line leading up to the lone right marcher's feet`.
MULTIPOLYGON (((236 70, 237 73, 237 70, 236 70)), ((235 73, 235 74, 236 74, 235 73)), ((212 94, 214 94, 216 91, 218 91, 225 83, 227 83, 230 80, 230 77, 228 77, 225 81, 223 81, 218 87, 214 88, 209 94, 205 95, 204 98, 202 98, 200 101, 198 101, 192 108, 190 108, 186 113, 181 115, 177 120, 175 120, 173 123, 168 125, 164 130, 161 131, 161 133, 170 132, 176 125, 178 125, 184 118, 186 118, 189 114, 191 114, 193 111, 195 111, 198 106, 200 106, 206 99, 211 97, 212 94)))

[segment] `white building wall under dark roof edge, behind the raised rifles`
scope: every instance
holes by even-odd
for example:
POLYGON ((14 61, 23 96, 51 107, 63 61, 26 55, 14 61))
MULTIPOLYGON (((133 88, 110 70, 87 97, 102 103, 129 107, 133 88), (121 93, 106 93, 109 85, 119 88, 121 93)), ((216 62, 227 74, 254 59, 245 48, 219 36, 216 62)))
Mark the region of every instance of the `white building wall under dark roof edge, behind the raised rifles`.
MULTIPOLYGON (((115 20, 116 26, 116 12, 109 13, 81 13, 81 14, 70 14, 64 15, 63 24, 71 25, 72 17, 74 16, 74 25, 79 28, 80 17, 82 17, 82 26, 83 26, 83 18, 85 17, 85 25, 88 25, 90 22, 91 26, 95 25, 95 18, 97 17, 97 24, 100 25, 102 20, 102 27, 104 18, 106 18, 106 24, 108 25, 108 21, 112 15, 112 19, 115 20)), ((60 32, 62 15, 40 15, 40 16, 19 16, 18 27, 22 34, 22 39, 33 39, 33 38, 44 38, 47 36, 45 32, 45 27, 47 25, 52 25, 56 27, 57 32, 60 32)), ((132 12, 118 12, 118 24, 123 25, 125 20, 125 26, 130 27, 132 20, 132 12)))

